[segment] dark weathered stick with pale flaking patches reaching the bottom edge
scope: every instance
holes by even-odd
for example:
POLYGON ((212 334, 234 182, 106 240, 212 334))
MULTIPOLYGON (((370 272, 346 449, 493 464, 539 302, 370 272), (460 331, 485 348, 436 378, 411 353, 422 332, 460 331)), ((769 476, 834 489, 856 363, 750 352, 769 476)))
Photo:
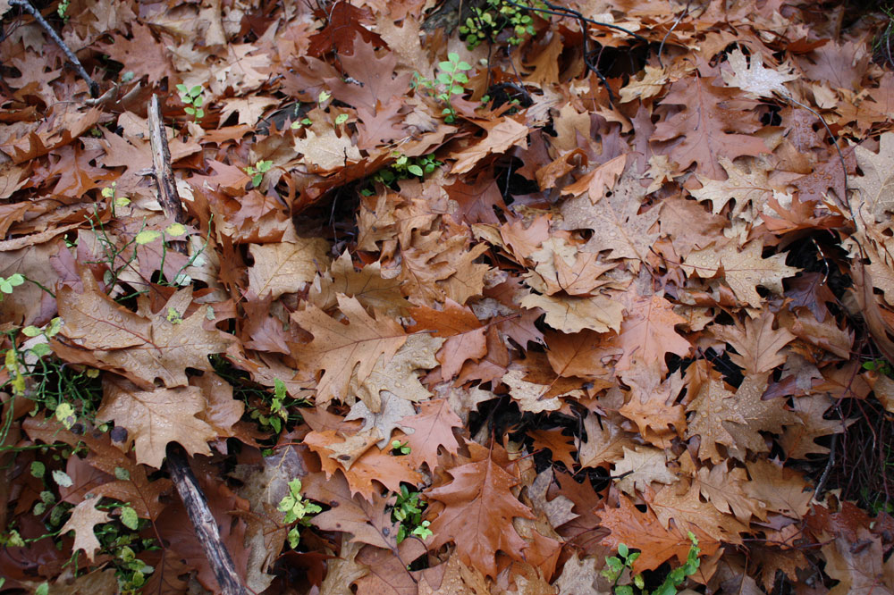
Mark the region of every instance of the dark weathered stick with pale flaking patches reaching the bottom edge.
POLYGON ((202 549, 205 550, 205 557, 208 558, 211 571, 215 574, 220 592, 223 595, 248 595, 249 591, 246 591, 239 574, 236 574, 232 556, 223 545, 215 517, 208 508, 205 493, 198 486, 196 475, 192 473, 186 451, 176 442, 171 442, 167 448, 167 462, 171 480, 177 487, 183 506, 186 507, 190 521, 196 528, 196 536, 202 544, 202 549))

